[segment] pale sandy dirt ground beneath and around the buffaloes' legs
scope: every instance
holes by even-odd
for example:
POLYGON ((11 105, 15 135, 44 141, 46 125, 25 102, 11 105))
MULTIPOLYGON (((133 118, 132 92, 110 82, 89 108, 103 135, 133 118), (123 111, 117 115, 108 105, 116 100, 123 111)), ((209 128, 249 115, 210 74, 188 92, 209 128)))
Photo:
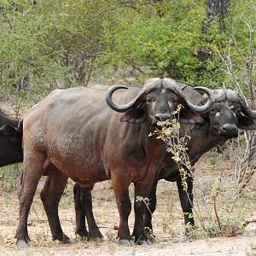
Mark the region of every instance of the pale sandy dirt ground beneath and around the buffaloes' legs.
MULTIPOLYGON (((207 156, 197 167, 200 177, 212 177, 220 172, 216 163, 207 156), (207 168, 206 168, 207 165, 207 168), (215 170, 210 172, 209 170, 215 170)), ((211 183, 211 181, 210 181, 211 183)), ((255 183, 255 178, 254 178, 255 183)), ((38 186, 38 192, 32 203, 28 232, 33 241, 32 247, 20 249, 15 246, 15 230, 18 224, 19 204, 17 191, 6 192, 0 189, 0 255, 256 255, 256 224, 249 224, 242 235, 226 237, 188 238, 183 235, 183 215, 179 205, 175 183, 160 181, 157 198, 157 210, 154 212, 154 234, 157 242, 148 247, 120 247, 115 240, 119 224, 119 214, 114 201, 110 182, 98 183, 93 191, 96 222, 100 226, 104 241, 82 241, 74 234, 75 214, 73 209, 73 182, 69 182, 61 199, 60 218, 62 229, 72 240, 72 244, 63 245, 52 241, 47 218, 39 198, 44 180, 38 186), (254 252, 254 254, 253 254, 254 252)), ((209 184, 208 184, 209 185, 209 184)), ((131 197, 132 197, 131 186, 131 197)), ((246 217, 256 217, 255 186, 253 201, 246 217)), ((242 205, 240 207, 243 207, 242 205)), ((195 218, 196 219, 196 218, 195 218)), ((134 215, 131 212, 132 230, 134 215)))

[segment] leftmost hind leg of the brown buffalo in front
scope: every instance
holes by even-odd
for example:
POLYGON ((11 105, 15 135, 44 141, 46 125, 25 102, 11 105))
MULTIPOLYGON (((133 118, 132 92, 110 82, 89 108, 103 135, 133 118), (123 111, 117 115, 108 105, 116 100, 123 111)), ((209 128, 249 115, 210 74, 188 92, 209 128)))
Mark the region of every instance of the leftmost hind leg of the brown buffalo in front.
POLYGON ((38 152, 26 152, 28 155, 24 160, 24 171, 22 173, 21 187, 19 193, 20 218, 16 230, 18 246, 29 246, 31 240, 27 232, 27 218, 35 195, 38 181, 42 177, 43 166, 46 157, 38 152))

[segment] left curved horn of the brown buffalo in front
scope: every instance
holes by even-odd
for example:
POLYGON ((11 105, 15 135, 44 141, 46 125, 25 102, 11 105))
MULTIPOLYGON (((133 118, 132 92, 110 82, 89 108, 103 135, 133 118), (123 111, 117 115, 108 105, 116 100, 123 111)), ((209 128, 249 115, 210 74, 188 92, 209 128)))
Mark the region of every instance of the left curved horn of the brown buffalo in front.
POLYGON ((138 105, 140 105, 143 102, 144 90, 141 90, 134 100, 124 105, 119 105, 113 102, 113 99, 112 99, 113 92, 119 89, 128 89, 128 87, 123 85, 114 85, 108 89, 108 92, 106 94, 106 102, 108 103, 108 106, 112 108, 114 111, 124 113, 131 108, 136 108, 138 105))

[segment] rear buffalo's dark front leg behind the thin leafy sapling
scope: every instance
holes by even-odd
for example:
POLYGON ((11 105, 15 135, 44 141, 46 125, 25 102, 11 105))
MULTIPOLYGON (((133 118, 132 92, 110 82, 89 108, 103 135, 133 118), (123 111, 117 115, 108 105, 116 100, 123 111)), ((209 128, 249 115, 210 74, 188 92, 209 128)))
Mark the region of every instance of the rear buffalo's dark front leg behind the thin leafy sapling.
POLYGON ((193 217, 193 178, 187 177, 187 185, 188 189, 185 191, 183 189, 182 179, 179 178, 177 180, 177 189, 178 195, 181 202, 181 207, 183 208, 184 214, 184 223, 195 225, 194 217, 193 217))

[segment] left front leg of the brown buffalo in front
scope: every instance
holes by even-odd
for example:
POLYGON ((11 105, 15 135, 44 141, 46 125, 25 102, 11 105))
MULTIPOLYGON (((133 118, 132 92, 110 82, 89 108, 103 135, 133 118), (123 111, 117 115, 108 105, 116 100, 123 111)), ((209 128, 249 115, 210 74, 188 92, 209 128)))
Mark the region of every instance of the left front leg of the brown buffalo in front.
POLYGON ((129 184, 125 183, 124 178, 119 177, 117 173, 112 176, 113 192, 115 195, 117 207, 119 210, 119 243, 124 246, 132 246, 134 242, 128 225, 128 218, 131 213, 131 200, 129 197, 129 184))

